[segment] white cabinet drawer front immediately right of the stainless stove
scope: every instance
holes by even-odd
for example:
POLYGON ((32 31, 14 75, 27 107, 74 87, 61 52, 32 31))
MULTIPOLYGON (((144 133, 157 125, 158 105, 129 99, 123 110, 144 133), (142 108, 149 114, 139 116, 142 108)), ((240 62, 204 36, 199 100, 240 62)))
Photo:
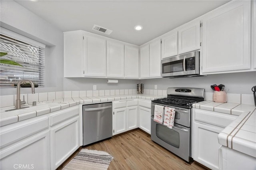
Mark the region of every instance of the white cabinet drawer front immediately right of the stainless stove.
POLYGON ((205 122, 224 128, 237 118, 237 116, 234 115, 228 115, 225 113, 218 113, 213 111, 205 111, 200 109, 193 109, 193 111, 195 121, 205 122))

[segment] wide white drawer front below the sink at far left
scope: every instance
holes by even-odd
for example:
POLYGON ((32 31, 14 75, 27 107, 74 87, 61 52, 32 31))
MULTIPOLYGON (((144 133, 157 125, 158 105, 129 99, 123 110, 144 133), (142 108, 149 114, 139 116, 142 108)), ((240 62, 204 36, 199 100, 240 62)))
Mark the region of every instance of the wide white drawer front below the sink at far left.
POLYGON ((31 122, 31 120, 26 122, 24 121, 19 126, 16 126, 10 130, 6 129, 4 130, 5 132, 2 131, 0 134, 1 148, 7 144, 11 144, 12 142, 48 128, 48 117, 39 119, 37 121, 36 119, 33 119, 34 122, 31 122))

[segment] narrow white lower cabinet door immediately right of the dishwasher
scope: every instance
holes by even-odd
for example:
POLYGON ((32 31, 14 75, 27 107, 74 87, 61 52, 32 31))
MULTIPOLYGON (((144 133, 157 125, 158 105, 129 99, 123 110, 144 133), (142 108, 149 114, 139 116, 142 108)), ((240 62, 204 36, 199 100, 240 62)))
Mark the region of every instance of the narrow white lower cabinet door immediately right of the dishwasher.
POLYGON ((114 135, 126 132, 126 107, 114 110, 114 135))

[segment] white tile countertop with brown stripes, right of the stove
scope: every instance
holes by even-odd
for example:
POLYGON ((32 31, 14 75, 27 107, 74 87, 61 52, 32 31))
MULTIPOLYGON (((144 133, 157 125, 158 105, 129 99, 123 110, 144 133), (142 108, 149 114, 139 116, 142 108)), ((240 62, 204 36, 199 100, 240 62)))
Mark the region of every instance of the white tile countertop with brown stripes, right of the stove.
POLYGON ((239 103, 202 101, 193 108, 237 115, 237 119, 218 134, 223 146, 256 158, 256 107, 239 103))

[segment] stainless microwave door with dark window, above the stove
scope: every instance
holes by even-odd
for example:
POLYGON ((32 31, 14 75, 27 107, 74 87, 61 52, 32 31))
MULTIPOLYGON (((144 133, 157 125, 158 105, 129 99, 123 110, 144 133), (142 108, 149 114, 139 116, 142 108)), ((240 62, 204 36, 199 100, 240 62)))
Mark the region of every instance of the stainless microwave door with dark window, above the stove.
POLYGON ((161 76, 187 75, 186 55, 177 55, 161 61, 161 76))

